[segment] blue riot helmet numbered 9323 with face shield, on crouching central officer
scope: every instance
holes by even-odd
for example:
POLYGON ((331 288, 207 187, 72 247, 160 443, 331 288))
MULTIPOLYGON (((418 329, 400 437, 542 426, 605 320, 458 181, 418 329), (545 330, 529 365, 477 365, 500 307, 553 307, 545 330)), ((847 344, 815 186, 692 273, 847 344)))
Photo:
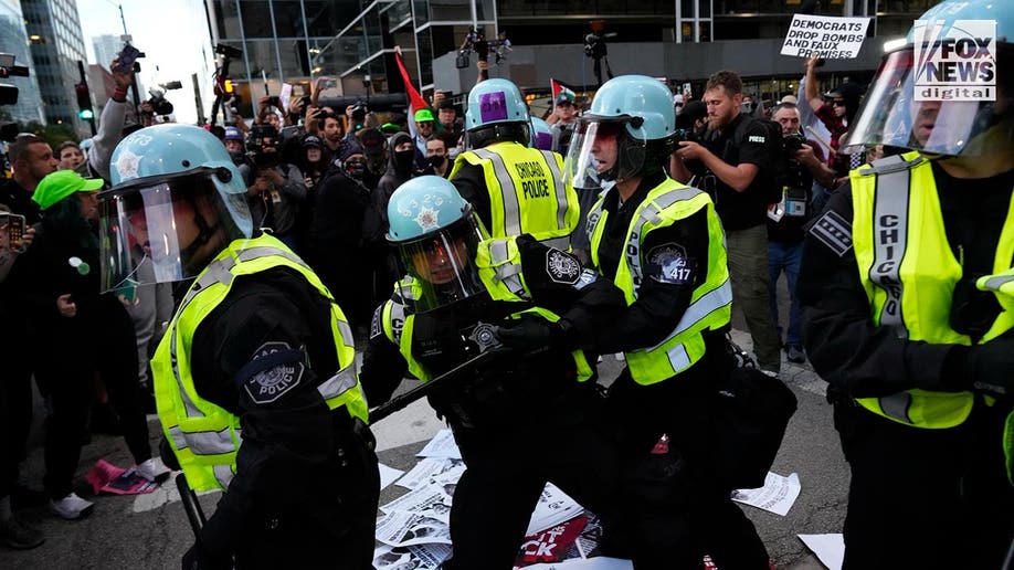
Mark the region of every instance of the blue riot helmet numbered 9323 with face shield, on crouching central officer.
POLYGON ((485 293, 475 254, 486 235, 472 204, 443 177, 421 176, 401 184, 388 202, 388 241, 398 249, 405 304, 433 310, 485 293))

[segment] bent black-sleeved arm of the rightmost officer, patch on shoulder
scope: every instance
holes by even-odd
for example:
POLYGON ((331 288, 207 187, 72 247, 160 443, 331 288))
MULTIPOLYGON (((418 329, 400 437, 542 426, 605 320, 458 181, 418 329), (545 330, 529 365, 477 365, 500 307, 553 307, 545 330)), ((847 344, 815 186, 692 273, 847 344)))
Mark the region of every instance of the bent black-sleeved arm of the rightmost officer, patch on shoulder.
MULTIPOLYGON (((848 184, 832 194, 824 212, 825 217, 834 215, 836 223, 845 221, 848 225, 853 219, 848 184)), ((806 353, 832 390, 855 398, 888 395, 911 388, 961 391, 971 389, 971 370, 987 373, 1001 363, 1001 338, 991 342, 996 342, 995 347, 970 352, 961 345, 912 341, 899 338, 889 327, 874 327, 856 271, 852 239, 828 238, 815 230, 821 220, 814 221, 803 244, 798 294, 806 353)), ((1005 342, 1006 369, 1012 370, 1014 341, 1005 342)))

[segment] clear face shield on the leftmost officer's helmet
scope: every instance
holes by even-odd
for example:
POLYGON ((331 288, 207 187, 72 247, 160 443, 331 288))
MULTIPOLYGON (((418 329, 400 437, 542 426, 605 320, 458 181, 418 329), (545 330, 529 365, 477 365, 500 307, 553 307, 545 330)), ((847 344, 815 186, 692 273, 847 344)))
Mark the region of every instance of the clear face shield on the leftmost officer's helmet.
POLYGON ((140 179, 99 194, 103 291, 196 277, 232 240, 244 238, 214 172, 140 179))

